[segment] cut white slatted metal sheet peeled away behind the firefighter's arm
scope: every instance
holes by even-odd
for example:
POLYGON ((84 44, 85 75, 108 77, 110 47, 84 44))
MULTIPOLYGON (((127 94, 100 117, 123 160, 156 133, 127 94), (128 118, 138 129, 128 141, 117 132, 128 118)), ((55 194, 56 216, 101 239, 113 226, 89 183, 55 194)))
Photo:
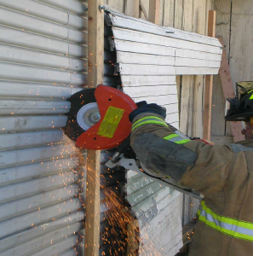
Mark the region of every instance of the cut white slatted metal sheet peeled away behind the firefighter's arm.
MULTIPOLYGON (((106 61, 113 63, 111 77, 119 76, 118 88, 135 102, 164 106, 166 121, 178 128, 175 76, 218 73, 221 44, 216 38, 156 26, 113 10, 106 21, 106 61)), ((127 172, 124 193, 139 223, 139 254, 174 256, 182 245, 180 193, 132 171, 127 172)))

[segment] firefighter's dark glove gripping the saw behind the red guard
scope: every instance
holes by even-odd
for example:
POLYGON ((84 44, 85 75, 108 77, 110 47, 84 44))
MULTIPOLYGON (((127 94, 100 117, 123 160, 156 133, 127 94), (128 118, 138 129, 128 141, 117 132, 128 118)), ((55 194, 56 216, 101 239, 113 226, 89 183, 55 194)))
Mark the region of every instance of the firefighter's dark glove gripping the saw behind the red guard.
MULTIPOLYGON (((137 106, 138 104, 139 103, 137 103, 137 106)), ((158 106, 158 104, 141 104, 141 107, 135 109, 129 114, 129 121, 132 123, 135 117, 140 113, 156 113, 162 116, 164 119, 166 118, 166 109, 158 106)))

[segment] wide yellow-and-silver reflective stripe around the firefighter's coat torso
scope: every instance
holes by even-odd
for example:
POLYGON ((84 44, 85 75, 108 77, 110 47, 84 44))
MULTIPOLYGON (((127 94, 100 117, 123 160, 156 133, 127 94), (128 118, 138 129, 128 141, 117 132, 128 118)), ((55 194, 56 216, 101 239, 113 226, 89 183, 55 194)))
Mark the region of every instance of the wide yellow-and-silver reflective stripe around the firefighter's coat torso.
POLYGON ((204 201, 201 202, 201 207, 202 211, 198 210, 198 215, 199 220, 204 222, 204 224, 220 231, 227 236, 233 236, 235 238, 253 241, 252 223, 218 215, 215 212, 212 212, 209 207, 206 207, 204 201))

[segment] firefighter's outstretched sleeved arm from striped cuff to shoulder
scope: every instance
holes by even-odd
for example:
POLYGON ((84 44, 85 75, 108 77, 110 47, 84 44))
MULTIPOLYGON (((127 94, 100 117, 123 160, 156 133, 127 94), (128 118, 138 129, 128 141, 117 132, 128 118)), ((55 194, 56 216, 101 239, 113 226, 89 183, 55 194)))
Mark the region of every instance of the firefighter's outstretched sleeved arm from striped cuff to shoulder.
POLYGON ((226 146, 186 140, 163 116, 147 112, 133 119, 131 146, 144 166, 204 195, 224 189, 236 155, 226 146))

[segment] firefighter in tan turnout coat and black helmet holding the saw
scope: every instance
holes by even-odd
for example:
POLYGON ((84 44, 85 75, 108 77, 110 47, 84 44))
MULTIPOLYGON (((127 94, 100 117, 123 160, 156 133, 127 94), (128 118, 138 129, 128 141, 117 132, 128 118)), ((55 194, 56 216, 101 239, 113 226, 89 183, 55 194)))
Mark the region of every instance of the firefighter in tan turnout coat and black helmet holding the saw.
POLYGON ((228 100, 226 116, 228 121, 244 121, 246 140, 240 143, 210 145, 180 137, 156 104, 129 115, 131 147, 141 163, 204 195, 193 242, 178 255, 253 255, 253 90, 242 92, 228 100))

